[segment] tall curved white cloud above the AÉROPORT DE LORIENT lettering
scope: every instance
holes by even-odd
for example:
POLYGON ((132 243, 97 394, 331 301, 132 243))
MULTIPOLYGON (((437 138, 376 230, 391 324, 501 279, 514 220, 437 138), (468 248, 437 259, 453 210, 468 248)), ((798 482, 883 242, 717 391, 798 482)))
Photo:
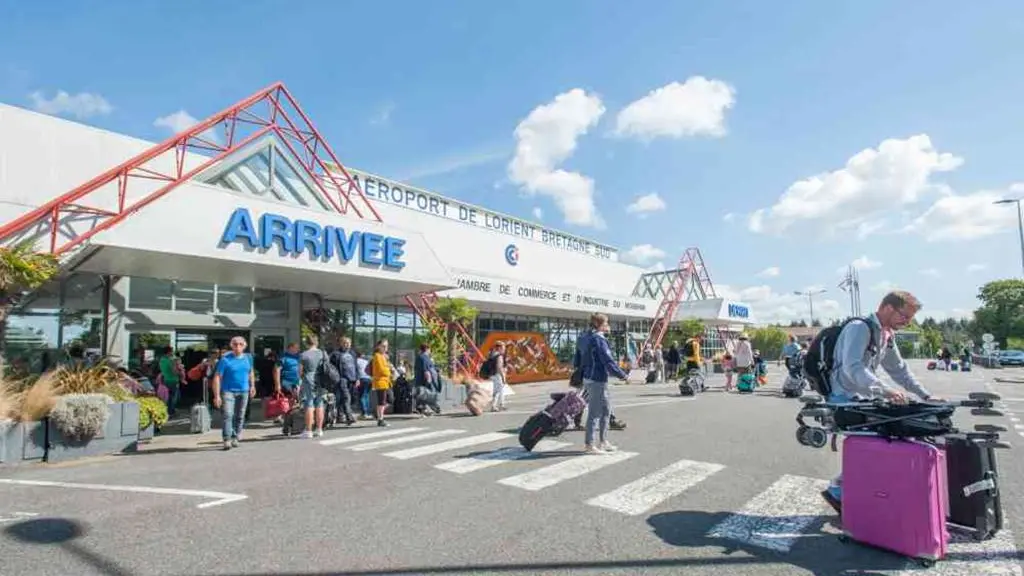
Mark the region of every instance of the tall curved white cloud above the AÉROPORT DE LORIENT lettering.
POLYGON ((569 159, 577 140, 604 115, 595 94, 574 88, 532 110, 515 129, 515 157, 509 179, 529 195, 551 198, 566 223, 604 228, 594 204, 594 180, 556 166, 569 159))

